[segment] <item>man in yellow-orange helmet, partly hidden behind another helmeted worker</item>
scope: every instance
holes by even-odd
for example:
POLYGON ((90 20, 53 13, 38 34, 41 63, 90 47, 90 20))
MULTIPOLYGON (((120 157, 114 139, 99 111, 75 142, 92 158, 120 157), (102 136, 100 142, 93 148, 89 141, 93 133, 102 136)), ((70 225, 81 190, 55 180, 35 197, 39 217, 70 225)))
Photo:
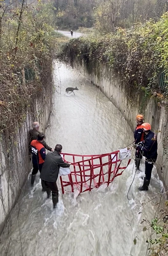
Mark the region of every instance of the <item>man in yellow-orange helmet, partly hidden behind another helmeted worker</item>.
MULTIPOLYGON (((141 127, 143 124, 143 115, 137 115, 136 122, 137 122, 137 125, 134 132, 134 139, 135 139, 135 144, 138 144, 139 142, 144 140, 144 132, 141 127)), ((143 156, 143 152, 139 148, 136 148, 135 165, 138 170, 139 170, 139 165, 140 165, 142 156, 143 156)))

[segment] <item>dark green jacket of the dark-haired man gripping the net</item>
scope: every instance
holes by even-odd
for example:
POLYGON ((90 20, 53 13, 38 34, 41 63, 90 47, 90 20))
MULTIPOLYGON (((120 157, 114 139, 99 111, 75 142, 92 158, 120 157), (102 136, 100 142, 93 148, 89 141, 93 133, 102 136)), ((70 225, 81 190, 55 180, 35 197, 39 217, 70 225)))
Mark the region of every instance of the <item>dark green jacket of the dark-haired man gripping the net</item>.
POLYGON ((48 182, 56 182, 60 167, 66 168, 69 166, 70 164, 65 163, 57 151, 49 152, 46 155, 40 178, 48 182))

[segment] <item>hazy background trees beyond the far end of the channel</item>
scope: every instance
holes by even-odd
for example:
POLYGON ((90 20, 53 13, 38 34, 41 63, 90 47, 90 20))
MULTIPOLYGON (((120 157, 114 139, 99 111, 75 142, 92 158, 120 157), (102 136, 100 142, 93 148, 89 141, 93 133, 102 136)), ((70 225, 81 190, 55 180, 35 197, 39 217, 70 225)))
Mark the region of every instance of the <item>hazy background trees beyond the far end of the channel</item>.
POLYGON ((129 28, 150 18, 157 20, 168 11, 167 0, 55 0, 56 25, 78 29, 94 26, 102 34, 129 28))

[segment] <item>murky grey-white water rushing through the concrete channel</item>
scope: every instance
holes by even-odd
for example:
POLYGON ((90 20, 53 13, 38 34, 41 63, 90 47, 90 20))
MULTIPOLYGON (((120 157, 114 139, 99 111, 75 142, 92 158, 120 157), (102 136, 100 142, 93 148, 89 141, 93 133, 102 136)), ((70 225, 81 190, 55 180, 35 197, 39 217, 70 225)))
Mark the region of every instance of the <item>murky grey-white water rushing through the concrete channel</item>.
MULTIPOLYGON (((55 64, 55 87, 53 112, 46 130, 50 146, 62 144, 67 153, 102 154, 133 141, 119 110, 78 71, 55 64), (74 91, 75 95, 65 92, 67 87, 76 86, 79 91, 74 91)), ((11 214, 11 233, 7 235, 4 231, 1 235, 2 255, 7 245, 9 256, 146 255, 150 231, 143 232, 145 222, 142 225, 140 222, 154 217, 157 201, 143 207, 142 204, 163 185, 154 168, 149 192, 139 192, 137 188, 143 183, 140 177, 144 173, 137 173, 128 200, 133 167, 132 160, 108 188, 102 185, 77 198, 60 193, 55 210, 52 198, 46 199, 46 193, 41 192, 39 177, 31 188, 29 175, 25 194, 11 214)), ((144 164, 141 170, 144 171, 144 164)), ((59 181, 58 185, 60 188, 59 181)))

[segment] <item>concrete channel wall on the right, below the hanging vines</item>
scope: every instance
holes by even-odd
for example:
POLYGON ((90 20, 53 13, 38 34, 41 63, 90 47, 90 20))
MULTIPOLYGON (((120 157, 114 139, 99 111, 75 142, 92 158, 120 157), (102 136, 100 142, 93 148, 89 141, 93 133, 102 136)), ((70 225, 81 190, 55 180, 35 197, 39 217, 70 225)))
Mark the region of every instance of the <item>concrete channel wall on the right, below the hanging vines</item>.
POLYGON ((145 116, 145 122, 150 123, 152 131, 157 134, 158 157, 156 167, 165 188, 168 188, 168 175, 166 175, 168 167, 168 155, 166 153, 168 108, 161 102, 158 103, 155 97, 145 98, 144 93, 137 93, 134 88, 129 91, 121 77, 114 74, 106 65, 102 65, 100 68, 99 64, 76 63, 75 66, 91 83, 98 86, 121 111, 132 131, 136 127, 135 116, 137 114, 145 116))

